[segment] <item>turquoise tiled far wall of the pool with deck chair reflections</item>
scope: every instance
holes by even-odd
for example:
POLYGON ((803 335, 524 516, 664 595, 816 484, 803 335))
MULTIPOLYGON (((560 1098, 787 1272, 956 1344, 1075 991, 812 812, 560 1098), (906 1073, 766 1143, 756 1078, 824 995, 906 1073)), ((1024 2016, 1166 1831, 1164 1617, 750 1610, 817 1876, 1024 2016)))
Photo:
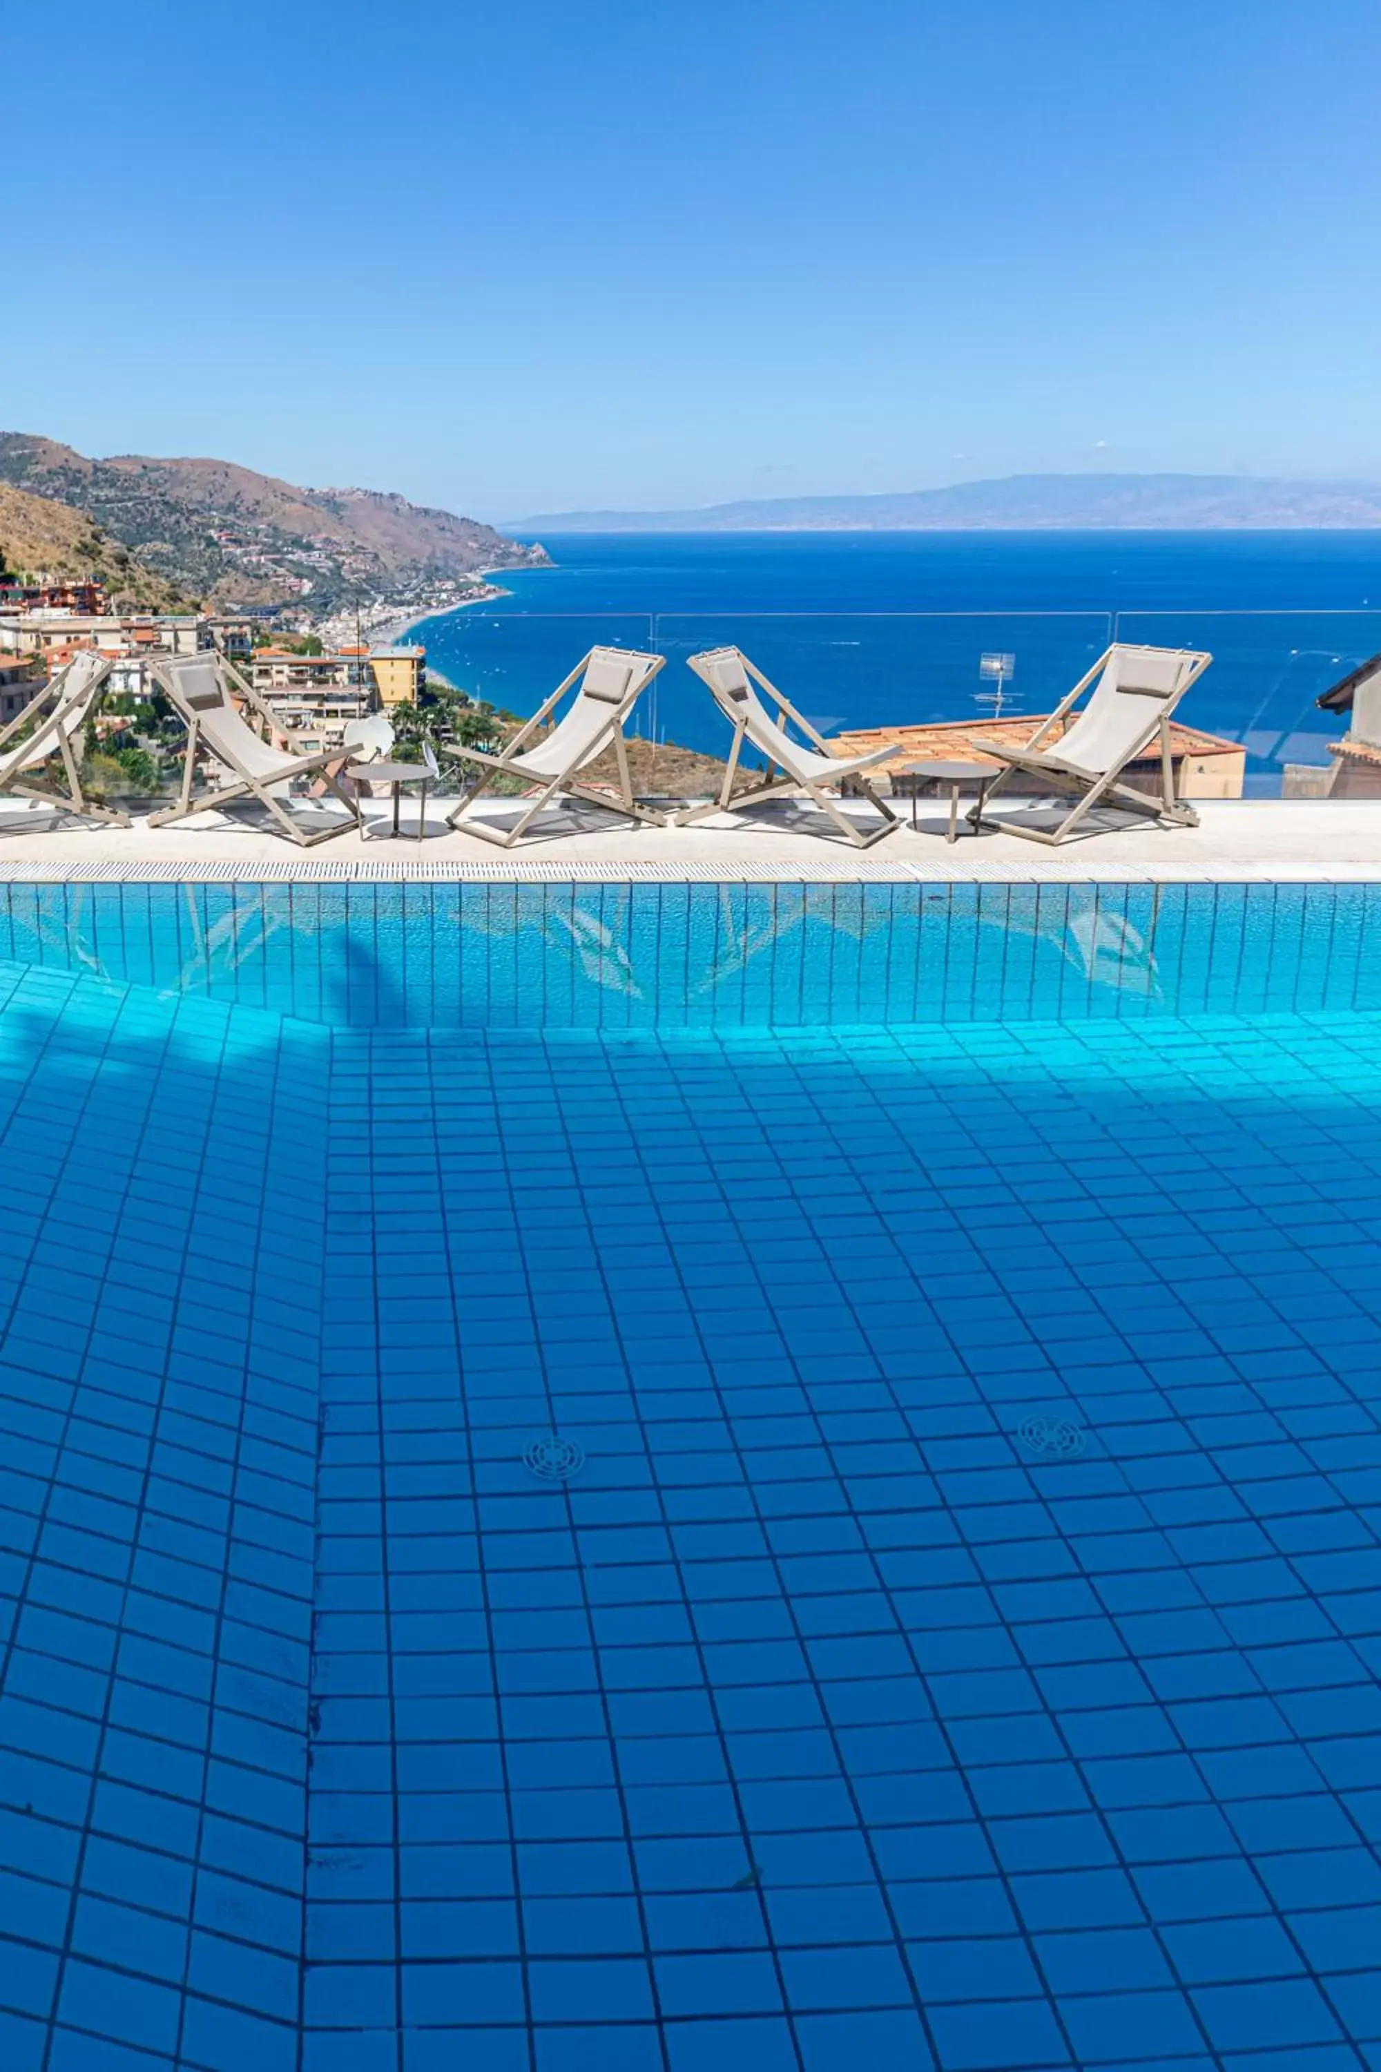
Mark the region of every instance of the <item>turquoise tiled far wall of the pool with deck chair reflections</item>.
POLYGON ((331 1028, 1381 1007, 1381 885, 0 881, 0 959, 331 1028))

